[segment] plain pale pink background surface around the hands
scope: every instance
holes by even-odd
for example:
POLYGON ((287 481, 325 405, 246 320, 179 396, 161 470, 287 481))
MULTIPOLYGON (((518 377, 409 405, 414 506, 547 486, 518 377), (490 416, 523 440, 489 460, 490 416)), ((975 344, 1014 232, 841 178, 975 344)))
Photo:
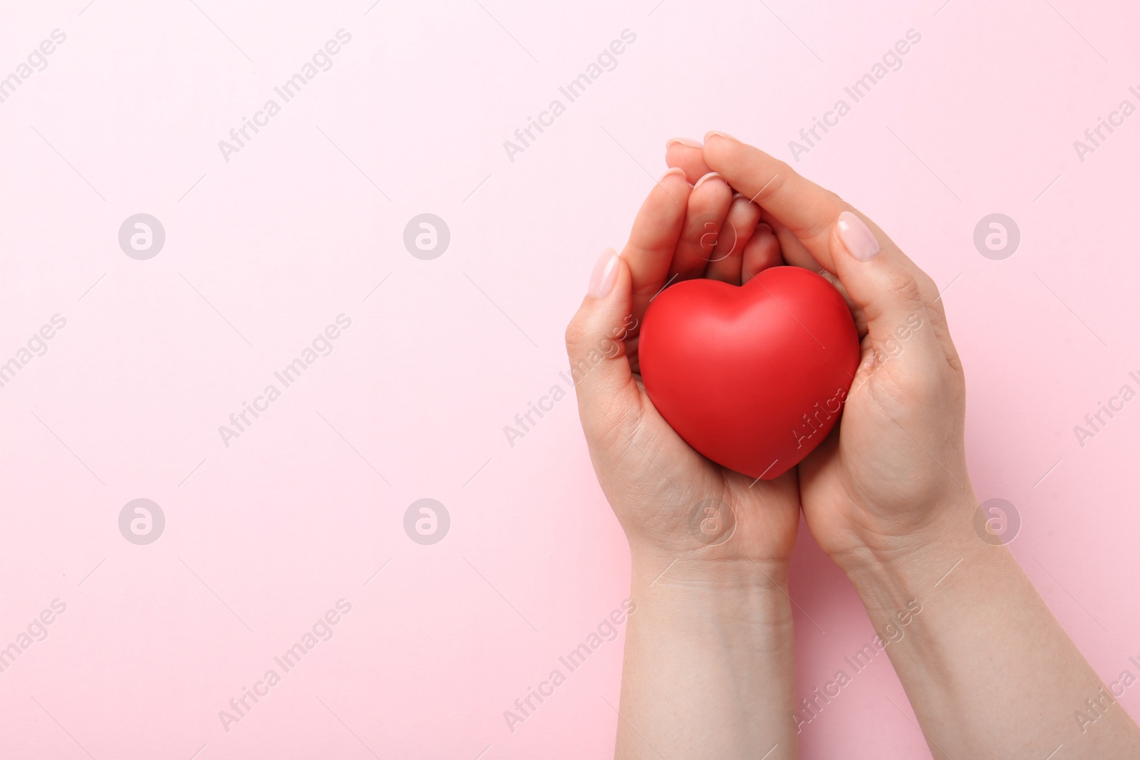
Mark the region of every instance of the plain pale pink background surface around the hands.
MULTIPOLYGON (((0 389, 0 646, 67 605, 0 673, 5 757, 610 757, 620 640, 503 718, 628 572, 572 398, 513 448, 503 426, 560 382, 589 267, 667 138, 790 160, 911 28, 902 70, 797 165, 950 287, 978 495, 1017 507, 1011 548, 1098 672, 1137 672, 1140 402, 1073 433, 1140 370, 1140 114, 1073 147, 1138 101, 1134 5, 87 2, 0 16, 0 77, 67 35, 0 104, 0 361, 67 320, 0 389), (340 28, 333 67, 227 163, 218 141, 340 28), (617 68, 512 162, 503 141, 626 28, 617 68), (148 261, 117 244, 139 212, 166 232, 148 261), (402 244, 424 212, 451 232, 432 261, 402 244), (994 212, 1021 231, 1003 261, 972 244, 994 212), (340 313, 332 354, 225 447, 340 313), (433 546, 402 528, 425 497, 451 517, 433 546), (166 516, 149 546, 119 532, 136 498, 166 516), (333 638, 227 733, 219 710, 341 598, 333 638)), ((804 696, 873 632, 806 533, 791 594, 804 696)), ((881 657, 803 757, 925 757, 888 700, 910 714, 881 657)), ((1140 714, 1140 689, 1121 703, 1140 714)))

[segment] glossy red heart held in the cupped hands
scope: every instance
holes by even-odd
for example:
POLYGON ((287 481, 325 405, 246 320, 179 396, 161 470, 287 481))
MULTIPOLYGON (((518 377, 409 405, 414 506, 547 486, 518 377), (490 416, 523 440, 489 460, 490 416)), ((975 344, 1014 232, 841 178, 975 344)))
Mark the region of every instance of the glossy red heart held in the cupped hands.
POLYGON ((692 279, 667 288, 645 312, 637 353, 645 392, 685 442, 772 480, 834 427, 860 344, 831 283, 773 267, 741 287, 692 279))

